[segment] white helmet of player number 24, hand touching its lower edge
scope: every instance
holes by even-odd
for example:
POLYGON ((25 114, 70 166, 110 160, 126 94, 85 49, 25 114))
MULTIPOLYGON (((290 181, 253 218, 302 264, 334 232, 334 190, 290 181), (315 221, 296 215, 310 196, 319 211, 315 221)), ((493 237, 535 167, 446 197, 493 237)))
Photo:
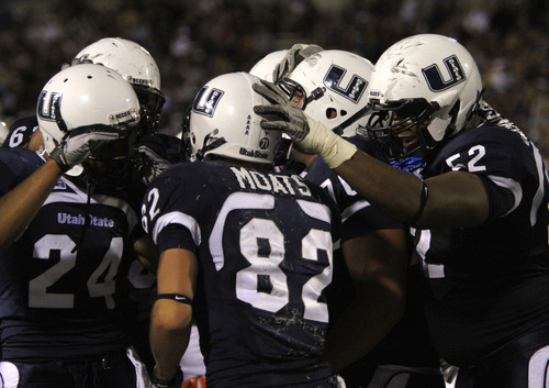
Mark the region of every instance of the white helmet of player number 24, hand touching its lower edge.
MULTIPOLYGON (((63 137, 81 126, 128 129, 139 123, 139 101, 132 86, 105 66, 67 67, 42 89, 36 107, 44 147, 51 153, 63 137)), ((80 175, 81 166, 67 174, 80 175)))

